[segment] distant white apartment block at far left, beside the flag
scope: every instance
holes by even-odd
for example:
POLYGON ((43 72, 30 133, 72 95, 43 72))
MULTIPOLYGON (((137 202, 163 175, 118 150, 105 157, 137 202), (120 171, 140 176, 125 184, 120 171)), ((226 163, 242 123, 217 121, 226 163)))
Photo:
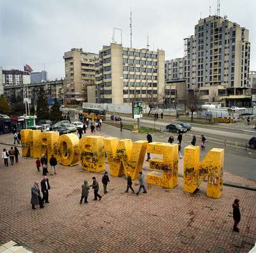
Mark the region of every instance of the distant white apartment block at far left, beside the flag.
POLYGON ((3 70, 3 85, 22 85, 30 83, 30 73, 21 70, 3 70))

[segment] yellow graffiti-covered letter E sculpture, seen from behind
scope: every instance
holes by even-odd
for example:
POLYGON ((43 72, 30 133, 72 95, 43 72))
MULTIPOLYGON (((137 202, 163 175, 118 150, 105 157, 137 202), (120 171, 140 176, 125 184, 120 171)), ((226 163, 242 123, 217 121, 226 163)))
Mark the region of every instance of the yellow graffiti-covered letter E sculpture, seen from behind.
POLYGON ((178 145, 151 142, 148 144, 147 152, 163 155, 163 159, 158 157, 150 159, 150 168, 161 172, 148 173, 147 182, 166 188, 176 187, 178 184, 178 145))

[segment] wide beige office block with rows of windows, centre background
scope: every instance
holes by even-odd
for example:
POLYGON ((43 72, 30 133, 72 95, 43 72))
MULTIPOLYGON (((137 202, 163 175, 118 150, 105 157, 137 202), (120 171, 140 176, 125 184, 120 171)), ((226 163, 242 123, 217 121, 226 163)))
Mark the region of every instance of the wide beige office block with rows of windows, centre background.
POLYGON ((122 44, 103 46, 96 63, 96 102, 162 103, 165 52, 135 49, 122 44))

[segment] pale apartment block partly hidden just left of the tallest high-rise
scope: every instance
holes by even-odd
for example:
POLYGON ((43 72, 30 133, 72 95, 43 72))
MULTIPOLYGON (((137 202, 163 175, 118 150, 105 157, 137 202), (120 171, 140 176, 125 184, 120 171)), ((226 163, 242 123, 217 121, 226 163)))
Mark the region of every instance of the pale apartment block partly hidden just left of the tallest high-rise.
POLYGON ((165 81, 184 78, 184 58, 176 58, 165 61, 165 81))

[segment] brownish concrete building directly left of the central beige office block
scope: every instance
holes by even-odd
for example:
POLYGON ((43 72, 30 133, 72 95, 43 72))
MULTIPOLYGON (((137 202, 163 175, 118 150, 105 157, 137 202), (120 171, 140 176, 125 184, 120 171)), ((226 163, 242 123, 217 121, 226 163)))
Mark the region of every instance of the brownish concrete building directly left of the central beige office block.
POLYGON ((95 61, 98 54, 84 52, 82 48, 65 52, 64 94, 70 104, 88 102, 87 87, 95 85, 95 61))

